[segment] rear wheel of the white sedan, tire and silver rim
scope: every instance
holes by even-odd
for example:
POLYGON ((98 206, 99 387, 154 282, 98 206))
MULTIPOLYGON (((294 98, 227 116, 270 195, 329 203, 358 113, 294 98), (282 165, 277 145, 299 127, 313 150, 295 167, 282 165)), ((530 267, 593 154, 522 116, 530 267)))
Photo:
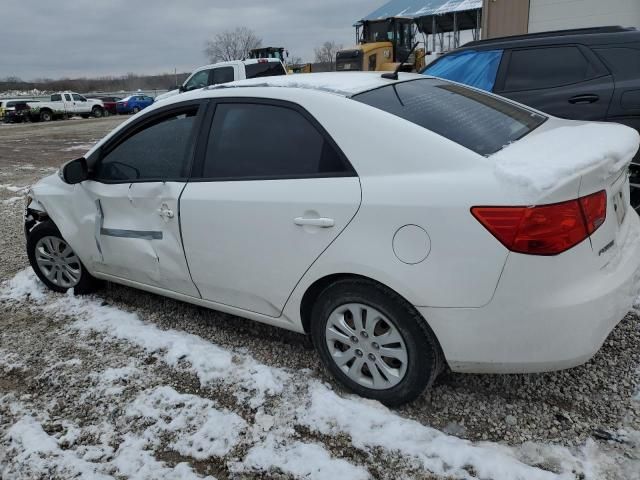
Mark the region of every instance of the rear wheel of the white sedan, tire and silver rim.
POLYGON ((320 358, 348 389, 389 406, 428 388, 442 366, 435 335, 420 314, 391 290, 345 279, 319 295, 311 334, 320 358))

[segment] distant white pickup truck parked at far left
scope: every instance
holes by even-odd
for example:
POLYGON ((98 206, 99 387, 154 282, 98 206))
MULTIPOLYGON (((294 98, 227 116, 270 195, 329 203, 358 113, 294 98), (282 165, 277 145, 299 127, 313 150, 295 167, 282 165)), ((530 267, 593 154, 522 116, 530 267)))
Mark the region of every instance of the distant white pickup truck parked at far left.
POLYGON ((49 101, 28 102, 31 108, 31 119, 49 122, 56 118, 70 118, 80 115, 88 118, 93 115, 100 118, 104 115, 102 100, 87 99, 75 92, 60 92, 51 95, 49 101))

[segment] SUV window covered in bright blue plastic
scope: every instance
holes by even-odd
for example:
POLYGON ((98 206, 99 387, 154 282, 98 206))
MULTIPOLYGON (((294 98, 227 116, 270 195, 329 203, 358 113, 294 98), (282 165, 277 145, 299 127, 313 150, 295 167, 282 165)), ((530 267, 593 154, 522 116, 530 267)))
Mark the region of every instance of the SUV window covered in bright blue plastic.
POLYGON ((502 50, 453 53, 429 65, 422 73, 490 92, 496 83, 502 53, 502 50))

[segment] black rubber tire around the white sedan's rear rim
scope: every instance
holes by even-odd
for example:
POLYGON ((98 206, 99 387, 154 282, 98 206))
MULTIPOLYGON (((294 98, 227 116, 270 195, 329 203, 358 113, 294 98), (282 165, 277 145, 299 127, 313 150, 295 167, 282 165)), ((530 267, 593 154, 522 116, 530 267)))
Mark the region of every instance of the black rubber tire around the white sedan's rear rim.
POLYGON ((320 359, 338 382, 362 397, 390 407, 415 400, 433 384, 442 370, 440 345, 422 316, 390 289, 366 279, 339 280, 320 293, 311 313, 311 336, 320 359), (335 309, 351 303, 378 310, 400 333, 406 346, 407 366, 397 385, 382 390, 368 388, 349 378, 334 362, 326 342, 327 322, 335 309))

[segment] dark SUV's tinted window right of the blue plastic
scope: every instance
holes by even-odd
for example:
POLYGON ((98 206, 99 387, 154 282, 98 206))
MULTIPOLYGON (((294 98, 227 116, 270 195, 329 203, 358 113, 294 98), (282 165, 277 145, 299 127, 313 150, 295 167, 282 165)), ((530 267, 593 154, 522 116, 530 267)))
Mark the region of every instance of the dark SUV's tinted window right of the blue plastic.
POLYGON ((504 91, 559 87, 594 76, 594 68, 575 46, 513 50, 504 91))

